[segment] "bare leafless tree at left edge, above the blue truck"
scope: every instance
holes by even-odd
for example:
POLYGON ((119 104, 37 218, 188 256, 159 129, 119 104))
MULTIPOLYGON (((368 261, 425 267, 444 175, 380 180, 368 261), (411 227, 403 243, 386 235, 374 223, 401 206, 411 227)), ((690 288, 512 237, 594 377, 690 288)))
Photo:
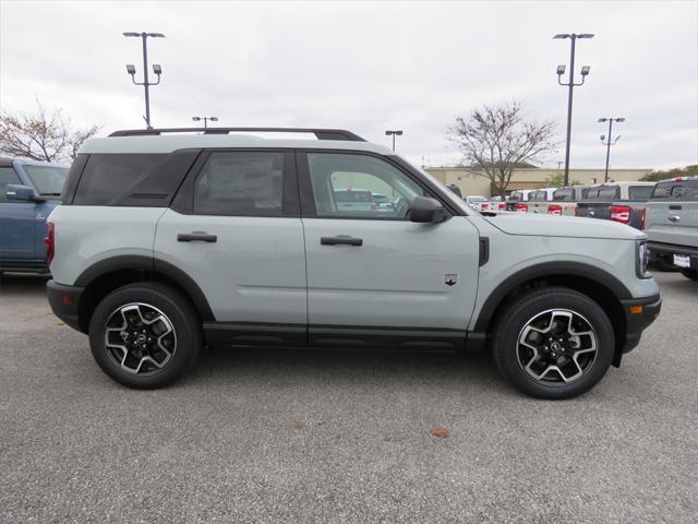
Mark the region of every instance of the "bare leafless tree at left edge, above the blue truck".
POLYGON ((33 160, 65 160, 74 158, 81 144, 99 130, 97 126, 71 129, 61 109, 49 115, 38 100, 35 115, 0 115, 0 152, 33 160))

